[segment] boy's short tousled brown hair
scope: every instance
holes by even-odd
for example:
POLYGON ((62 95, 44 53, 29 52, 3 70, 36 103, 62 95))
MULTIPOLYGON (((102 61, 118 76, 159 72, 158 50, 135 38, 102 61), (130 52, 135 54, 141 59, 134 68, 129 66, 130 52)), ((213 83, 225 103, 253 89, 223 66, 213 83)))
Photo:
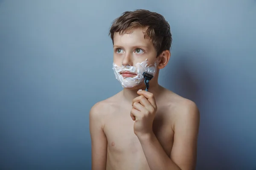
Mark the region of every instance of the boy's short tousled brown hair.
POLYGON ((151 39, 157 51, 157 57, 161 52, 170 50, 172 34, 169 23, 162 15, 145 9, 122 13, 120 17, 113 20, 109 35, 113 42, 113 37, 117 32, 122 35, 131 33, 135 28, 147 28, 144 37, 151 39))

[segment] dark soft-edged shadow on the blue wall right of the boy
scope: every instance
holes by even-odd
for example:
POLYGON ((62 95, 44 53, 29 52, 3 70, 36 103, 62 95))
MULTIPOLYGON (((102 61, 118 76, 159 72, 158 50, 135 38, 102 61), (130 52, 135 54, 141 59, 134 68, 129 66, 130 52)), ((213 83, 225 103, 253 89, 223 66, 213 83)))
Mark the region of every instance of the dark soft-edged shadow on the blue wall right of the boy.
POLYGON ((167 72, 171 76, 172 83, 167 82, 166 88, 195 102, 200 111, 197 170, 216 170, 216 168, 218 170, 228 170, 233 166, 233 163, 226 157, 228 155, 227 150, 221 149, 218 142, 212 140, 212 134, 215 133, 215 122, 211 119, 212 111, 209 111, 210 108, 207 107, 209 102, 205 101, 209 98, 210 94, 207 92, 209 89, 205 90, 207 88, 203 88, 203 86, 216 80, 208 77, 208 75, 214 73, 211 73, 210 68, 207 68, 207 61, 204 56, 205 54, 177 55, 168 68, 167 72), (204 71, 204 73, 201 73, 201 71, 204 71))

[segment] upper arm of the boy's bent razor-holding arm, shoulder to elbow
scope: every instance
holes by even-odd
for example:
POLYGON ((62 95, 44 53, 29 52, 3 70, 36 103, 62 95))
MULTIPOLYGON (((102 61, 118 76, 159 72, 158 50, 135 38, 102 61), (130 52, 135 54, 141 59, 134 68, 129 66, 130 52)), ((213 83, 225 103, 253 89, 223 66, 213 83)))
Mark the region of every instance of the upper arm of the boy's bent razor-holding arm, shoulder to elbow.
POLYGON ((197 160, 197 139, 200 113, 194 102, 186 102, 180 107, 175 119, 174 143, 171 159, 182 170, 195 170, 197 160))

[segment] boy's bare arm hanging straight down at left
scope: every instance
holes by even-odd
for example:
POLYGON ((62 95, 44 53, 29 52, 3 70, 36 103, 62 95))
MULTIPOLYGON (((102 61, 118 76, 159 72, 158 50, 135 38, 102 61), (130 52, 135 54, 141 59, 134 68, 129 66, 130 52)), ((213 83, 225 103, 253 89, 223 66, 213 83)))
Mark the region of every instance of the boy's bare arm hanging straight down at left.
POLYGON ((92 170, 106 170, 107 138, 103 131, 99 103, 90 110, 90 137, 92 147, 92 170))

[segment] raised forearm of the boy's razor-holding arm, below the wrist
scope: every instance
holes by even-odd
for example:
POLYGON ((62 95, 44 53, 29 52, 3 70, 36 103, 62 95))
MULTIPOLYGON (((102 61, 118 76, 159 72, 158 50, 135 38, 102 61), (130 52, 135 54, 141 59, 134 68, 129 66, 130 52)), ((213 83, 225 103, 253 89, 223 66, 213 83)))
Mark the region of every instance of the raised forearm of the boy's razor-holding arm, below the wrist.
POLYGON ((138 136, 143 152, 151 170, 181 170, 167 156, 154 133, 138 136))

